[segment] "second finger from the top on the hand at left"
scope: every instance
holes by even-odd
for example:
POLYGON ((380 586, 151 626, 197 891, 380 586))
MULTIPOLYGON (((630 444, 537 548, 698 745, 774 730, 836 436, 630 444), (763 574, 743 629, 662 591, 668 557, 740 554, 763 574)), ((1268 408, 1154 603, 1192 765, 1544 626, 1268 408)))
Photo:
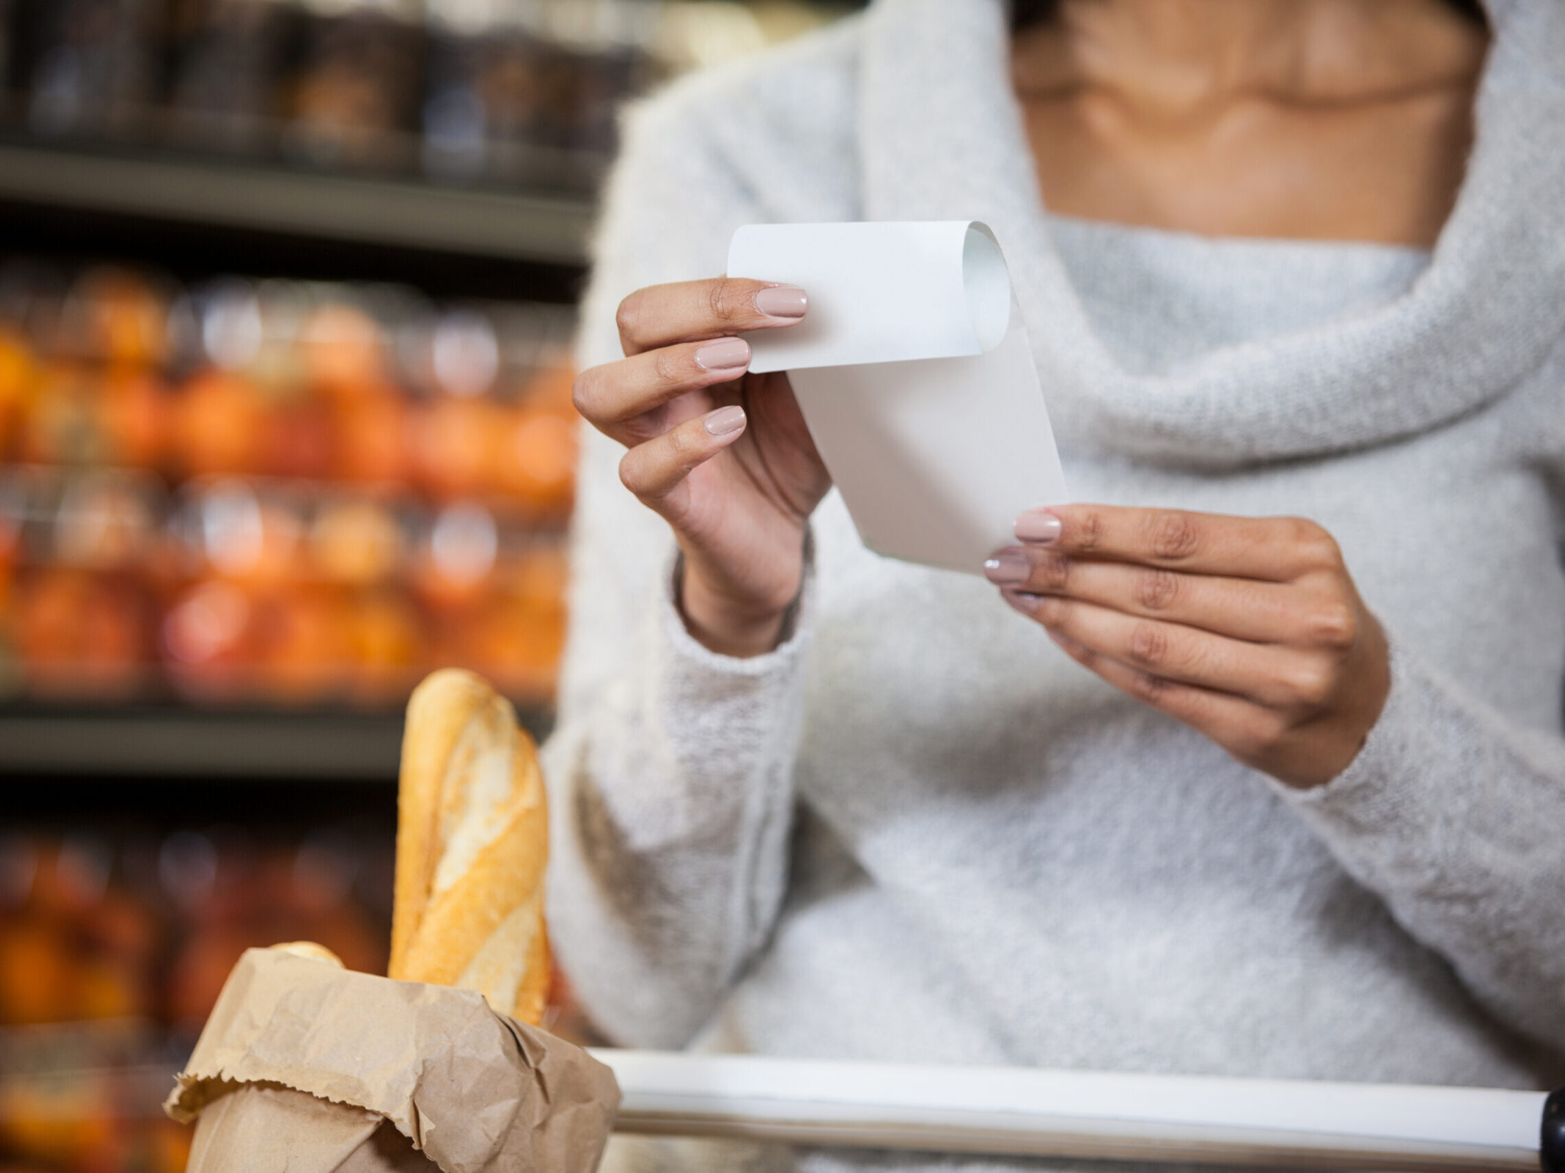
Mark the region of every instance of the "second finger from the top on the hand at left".
POLYGON ((634 446, 664 431, 645 420, 649 412, 681 395, 731 382, 748 365, 743 338, 660 346, 582 371, 571 385, 571 402, 593 428, 634 446))

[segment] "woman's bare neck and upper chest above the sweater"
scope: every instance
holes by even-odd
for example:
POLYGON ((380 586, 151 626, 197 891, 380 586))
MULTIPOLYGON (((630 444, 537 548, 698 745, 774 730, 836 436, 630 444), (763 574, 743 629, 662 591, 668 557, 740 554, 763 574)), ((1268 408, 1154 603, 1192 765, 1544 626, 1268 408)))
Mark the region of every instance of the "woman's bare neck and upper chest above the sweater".
POLYGON ((1430 244, 1487 45, 1441 0, 1063 0, 1013 78, 1055 211, 1430 244))

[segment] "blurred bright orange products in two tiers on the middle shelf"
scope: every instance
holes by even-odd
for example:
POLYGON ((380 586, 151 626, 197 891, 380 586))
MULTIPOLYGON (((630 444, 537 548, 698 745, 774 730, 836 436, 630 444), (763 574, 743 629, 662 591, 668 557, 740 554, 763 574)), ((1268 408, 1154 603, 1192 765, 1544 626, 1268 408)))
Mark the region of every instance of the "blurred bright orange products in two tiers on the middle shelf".
POLYGON ((570 312, 0 268, 0 689, 396 708, 552 688, 570 312))

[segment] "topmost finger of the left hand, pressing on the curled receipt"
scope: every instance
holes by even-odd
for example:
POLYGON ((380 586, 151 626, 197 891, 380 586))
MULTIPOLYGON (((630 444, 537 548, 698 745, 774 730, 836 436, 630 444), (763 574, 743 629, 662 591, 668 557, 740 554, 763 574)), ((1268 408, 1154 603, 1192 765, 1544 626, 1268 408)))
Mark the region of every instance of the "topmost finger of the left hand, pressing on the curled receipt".
POLYGON ((615 321, 628 356, 676 341, 793 326, 808 309, 804 290, 745 277, 649 285, 620 302, 615 321))

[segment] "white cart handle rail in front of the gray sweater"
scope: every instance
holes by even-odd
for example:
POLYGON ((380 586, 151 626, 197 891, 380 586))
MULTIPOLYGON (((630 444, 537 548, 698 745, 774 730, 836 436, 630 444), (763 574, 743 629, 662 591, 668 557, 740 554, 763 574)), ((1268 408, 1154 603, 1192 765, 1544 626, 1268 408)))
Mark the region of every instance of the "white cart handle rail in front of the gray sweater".
POLYGON ((1006 1156, 1565 1173, 1560 1092, 593 1054, 620 1081, 621 1132, 1006 1156))

